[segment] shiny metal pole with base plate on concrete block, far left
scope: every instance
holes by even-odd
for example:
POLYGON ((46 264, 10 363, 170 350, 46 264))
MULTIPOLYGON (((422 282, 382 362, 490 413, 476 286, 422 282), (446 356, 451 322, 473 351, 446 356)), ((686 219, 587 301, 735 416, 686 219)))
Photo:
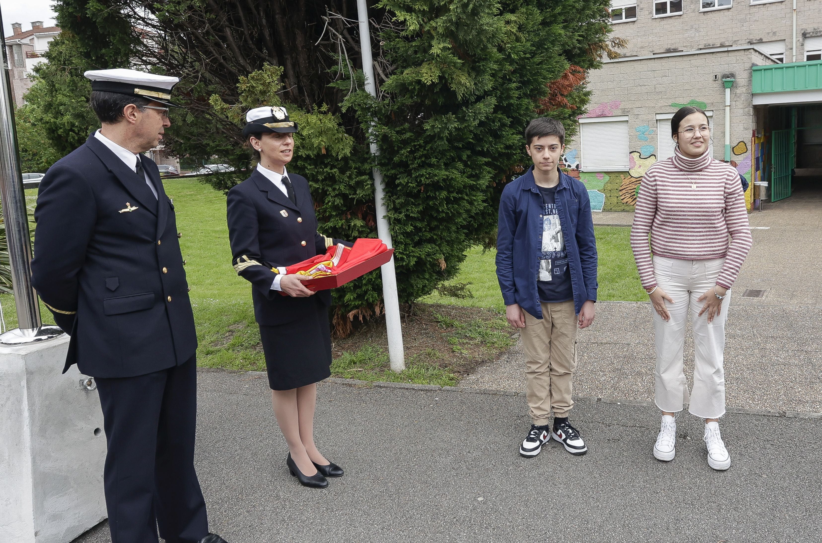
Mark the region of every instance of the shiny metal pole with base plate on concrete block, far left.
POLYGON ((0 343, 30 343, 62 334, 55 326, 41 326, 35 289, 31 286, 31 238, 25 209, 25 192, 17 154, 17 131, 12 107, 12 81, 9 77, 6 36, 2 30, 2 76, 0 76, 0 202, 6 225, 8 260, 12 269, 12 288, 17 307, 18 328, 0 335, 0 343))

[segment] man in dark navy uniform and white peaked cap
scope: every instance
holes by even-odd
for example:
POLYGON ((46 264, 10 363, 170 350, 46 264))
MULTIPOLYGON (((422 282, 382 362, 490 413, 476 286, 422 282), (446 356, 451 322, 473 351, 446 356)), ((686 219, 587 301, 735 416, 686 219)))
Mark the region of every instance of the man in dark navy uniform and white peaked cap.
POLYGON ((32 282, 95 377, 113 543, 224 543, 194 471, 197 347, 174 219, 154 162, 177 77, 86 71, 102 128, 40 183, 32 282))

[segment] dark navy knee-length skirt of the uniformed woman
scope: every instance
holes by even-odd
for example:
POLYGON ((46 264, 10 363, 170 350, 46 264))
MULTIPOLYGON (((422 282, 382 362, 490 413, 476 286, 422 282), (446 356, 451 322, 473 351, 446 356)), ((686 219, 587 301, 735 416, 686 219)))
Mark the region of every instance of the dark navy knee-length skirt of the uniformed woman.
POLYGON ((272 390, 297 389, 331 375, 331 329, 328 307, 319 300, 316 311, 285 324, 260 325, 272 390))

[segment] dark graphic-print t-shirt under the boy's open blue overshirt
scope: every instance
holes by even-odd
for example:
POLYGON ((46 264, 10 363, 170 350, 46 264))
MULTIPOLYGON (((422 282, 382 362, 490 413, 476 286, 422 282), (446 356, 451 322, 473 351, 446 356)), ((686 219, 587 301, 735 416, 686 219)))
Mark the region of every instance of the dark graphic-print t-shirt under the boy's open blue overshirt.
POLYGON ((539 255, 537 290, 539 301, 556 303, 574 299, 565 238, 562 237, 559 209, 556 209, 556 186, 538 186, 543 195, 543 247, 539 255))

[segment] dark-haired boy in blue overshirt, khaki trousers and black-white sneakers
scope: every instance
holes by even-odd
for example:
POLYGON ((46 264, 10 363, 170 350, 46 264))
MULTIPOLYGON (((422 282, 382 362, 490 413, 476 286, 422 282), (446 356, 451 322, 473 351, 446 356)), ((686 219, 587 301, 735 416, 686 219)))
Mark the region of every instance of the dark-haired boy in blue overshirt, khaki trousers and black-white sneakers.
POLYGON ((496 276, 508 322, 520 329, 533 421, 520 454, 537 456, 552 437, 569 453, 584 454, 588 449, 568 412, 576 327, 593 323, 597 300, 591 203, 585 186, 559 169, 565 150, 560 122, 534 119, 525 141, 533 166, 502 191, 496 237, 496 276))

